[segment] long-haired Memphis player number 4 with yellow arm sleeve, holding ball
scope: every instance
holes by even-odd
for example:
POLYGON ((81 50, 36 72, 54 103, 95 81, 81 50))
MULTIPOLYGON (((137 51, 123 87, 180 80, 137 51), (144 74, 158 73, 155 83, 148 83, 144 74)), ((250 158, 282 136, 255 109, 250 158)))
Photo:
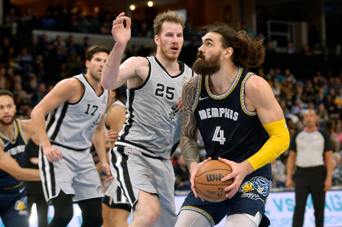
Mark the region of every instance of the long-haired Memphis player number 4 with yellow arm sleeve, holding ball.
POLYGON ((262 77, 240 67, 261 65, 263 41, 223 23, 205 29, 193 65, 199 75, 183 87, 181 150, 190 170, 192 191, 175 226, 214 226, 225 216, 226 227, 268 226, 264 213, 272 187, 270 162, 287 149, 290 137, 271 87, 262 77), (207 151, 207 159, 201 163, 197 129, 207 151), (196 171, 211 159, 233 169, 222 178, 234 178, 234 183, 224 188, 229 192, 222 202, 204 201, 194 187, 196 171))

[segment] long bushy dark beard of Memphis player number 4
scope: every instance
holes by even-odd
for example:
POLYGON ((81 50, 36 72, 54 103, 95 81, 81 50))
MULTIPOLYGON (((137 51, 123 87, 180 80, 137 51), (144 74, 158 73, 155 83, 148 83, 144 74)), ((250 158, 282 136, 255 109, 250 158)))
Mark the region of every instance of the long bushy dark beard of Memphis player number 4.
POLYGON ((202 75, 211 75, 218 72, 221 69, 220 54, 214 55, 213 57, 206 59, 202 53, 198 52, 197 60, 194 62, 192 69, 197 74, 202 75))

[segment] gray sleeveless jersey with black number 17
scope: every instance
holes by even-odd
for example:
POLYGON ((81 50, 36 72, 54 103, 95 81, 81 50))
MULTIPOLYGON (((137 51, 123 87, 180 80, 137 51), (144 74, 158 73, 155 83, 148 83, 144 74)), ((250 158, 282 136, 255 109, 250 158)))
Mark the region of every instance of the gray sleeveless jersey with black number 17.
POLYGON ((73 76, 84 85, 83 96, 77 103, 64 102, 49 113, 47 135, 52 144, 73 150, 91 146, 94 131, 108 103, 109 91, 97 96, 83 74, 73 76))

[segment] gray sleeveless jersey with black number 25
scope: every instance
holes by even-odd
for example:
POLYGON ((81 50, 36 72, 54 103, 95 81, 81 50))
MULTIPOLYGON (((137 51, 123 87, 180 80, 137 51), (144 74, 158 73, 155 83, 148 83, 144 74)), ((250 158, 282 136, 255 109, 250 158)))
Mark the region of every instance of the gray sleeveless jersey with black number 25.
POLYGON ((156 57, 147 60, 149 72, 144 84, 127 89, 127 120, 115 145, 169 159, 181 138, 181 115, 174 102, 182 96, 183 84, 193 71, 178 62, 181 72, 171 76, 156 57))

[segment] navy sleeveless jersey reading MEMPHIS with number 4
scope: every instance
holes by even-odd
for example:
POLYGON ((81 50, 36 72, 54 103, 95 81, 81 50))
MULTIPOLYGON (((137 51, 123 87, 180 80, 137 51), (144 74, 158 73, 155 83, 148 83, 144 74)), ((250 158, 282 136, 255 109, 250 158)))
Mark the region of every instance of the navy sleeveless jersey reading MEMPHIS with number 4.
POLYGON ((198 76, 192 109, 207 157, 240 163, 257 153, 268 140, 257 112, 245 105, 245 83, 252 74, 238 68, 233 84, 222 95, 211 93, 208 75, 198 76))

